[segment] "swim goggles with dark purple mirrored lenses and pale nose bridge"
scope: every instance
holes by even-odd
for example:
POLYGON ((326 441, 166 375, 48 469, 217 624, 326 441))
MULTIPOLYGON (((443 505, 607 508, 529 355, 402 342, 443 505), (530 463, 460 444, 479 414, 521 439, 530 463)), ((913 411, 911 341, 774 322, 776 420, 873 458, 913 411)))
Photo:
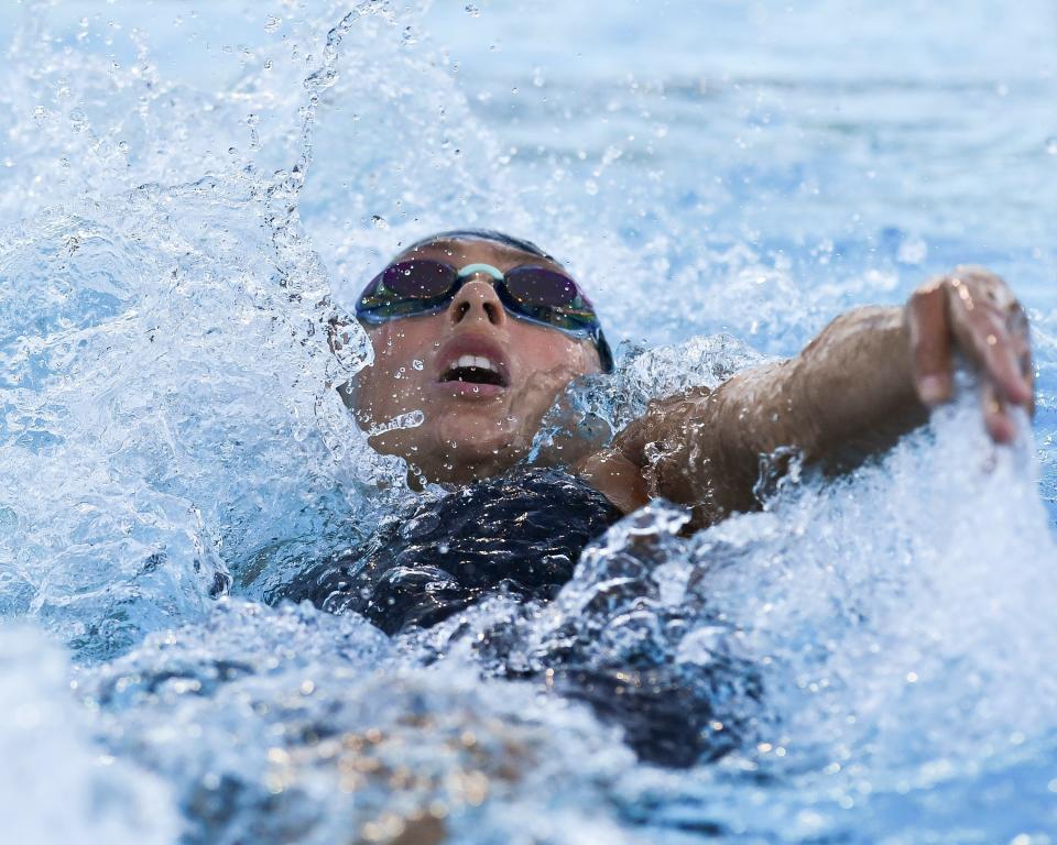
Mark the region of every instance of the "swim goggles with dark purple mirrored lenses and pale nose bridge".
POLYGON ((357 319, 380 326, 402 317, 440 311, 478 273, 492 277, 495 293, 509 314, 575 338, 589 338, 598 349, 602 371, 612 372, 613 354, 590 299, 564 273, 534 264, 503 273, 491 264, 468 264, 457 270, 431 259, 397 261, 363 288, 356 304, 357 319))

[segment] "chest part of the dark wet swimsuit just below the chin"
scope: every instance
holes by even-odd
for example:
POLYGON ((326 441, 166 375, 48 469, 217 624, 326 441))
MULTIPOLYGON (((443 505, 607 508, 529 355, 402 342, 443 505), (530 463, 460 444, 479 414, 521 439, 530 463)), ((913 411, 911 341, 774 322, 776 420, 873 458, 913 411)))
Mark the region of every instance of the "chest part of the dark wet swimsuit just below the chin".
POLYGON ((519 469, 424 498, 369 549, 318 563, 284 597, 359 613, 386 634, 429 627, 490 594, 549 600, 620 516, 565 472, 519 469))

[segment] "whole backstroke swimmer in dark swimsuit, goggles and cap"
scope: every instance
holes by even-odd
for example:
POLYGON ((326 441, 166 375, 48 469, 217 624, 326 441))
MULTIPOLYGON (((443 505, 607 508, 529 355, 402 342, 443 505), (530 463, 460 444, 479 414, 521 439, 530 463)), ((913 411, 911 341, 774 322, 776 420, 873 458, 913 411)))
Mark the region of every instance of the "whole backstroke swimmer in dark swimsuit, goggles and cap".
MULTIPOLYGON (((1014 408, 1033 410, 1024 311, 977 267, 928 282, 903 307, 849 311, 788 361, 658 399, 608 446, 569 443, 563 468, 522 459, 569 383, 613 362, 590 299, 552 256, 499 232, 444 232, 375 276, 357 318, 374 362, 340 388, 346 403, 374 449, 451 493, 425 493, 366 548, 313 562, 270 597, 359 613, 392 636, 442 624, 451 626, 444 637, 473 632, 489 671, 589 704, 641 759, 664 766, 716 759, 751 733, 763 699, 753 666, 718 654, 683 666, 649 638, 611 655, 578 636, 576 621, 535 641, 526 662, 509 613, 481 630, 460 614, 495 597, 531 616, 592 539, 653 498, 686 506, 704 527, 759 506, 766 456, 795 450, 840 469, 885 449, 951 398, 956 353, 978 373, 995 442, 1015 436, 1014 408), (424 411, 418 427, 386 425, 414 410, 424 411)), ((348 342, 335 327, 336 351, 348 342)), ((611 610, 650 603, 649 539, 636 544, 606 588, 611 610)))

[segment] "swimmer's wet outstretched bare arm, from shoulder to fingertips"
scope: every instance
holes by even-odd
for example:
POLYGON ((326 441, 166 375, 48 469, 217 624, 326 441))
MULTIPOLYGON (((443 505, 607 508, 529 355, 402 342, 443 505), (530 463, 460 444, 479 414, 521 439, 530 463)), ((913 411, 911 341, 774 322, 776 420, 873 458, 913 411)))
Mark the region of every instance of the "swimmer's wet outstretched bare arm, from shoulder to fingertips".
POLYGON ((756 506, 765 456, 839 468, 923 424, 951 397, 955 350, 979 372, 988 431, 1009 442, 1010 408, 1034 409, 1027 319, 1001 278, 958 267, 904 307, 838 317, 796 358, 653 403, 580 472, 624 511, 664 496, 715 523, 756 506))

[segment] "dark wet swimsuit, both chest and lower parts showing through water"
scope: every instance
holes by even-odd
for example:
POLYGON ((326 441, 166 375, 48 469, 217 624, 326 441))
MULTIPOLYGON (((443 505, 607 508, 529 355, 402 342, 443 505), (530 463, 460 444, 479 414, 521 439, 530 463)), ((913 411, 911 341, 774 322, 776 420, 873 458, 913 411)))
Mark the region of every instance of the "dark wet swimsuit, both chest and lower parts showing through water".
MULTIPOLYGON (((273 597, 351 611, 389 635, 428 628, 489 595, 548 601, 571 579, 585 547, 620 517, 601 493, 567 473, 516 470, 423 498, 380 526, 369 549, 315 564, 273 597)), ((687 679, 671 657, 629 666, 569 640, 538 656, 543 670, 519 668, 508 659, 517 650, 516 634, 500 627, 482 636, 497 671, 522 679, 545 672, 548 689, 621 725, 644 760, 689 766, 739 742, 733 725, 721 733, 710 727, 713 704, 731 676, 754 690, 751 668, 717 662, 708 678, 687 679)))

